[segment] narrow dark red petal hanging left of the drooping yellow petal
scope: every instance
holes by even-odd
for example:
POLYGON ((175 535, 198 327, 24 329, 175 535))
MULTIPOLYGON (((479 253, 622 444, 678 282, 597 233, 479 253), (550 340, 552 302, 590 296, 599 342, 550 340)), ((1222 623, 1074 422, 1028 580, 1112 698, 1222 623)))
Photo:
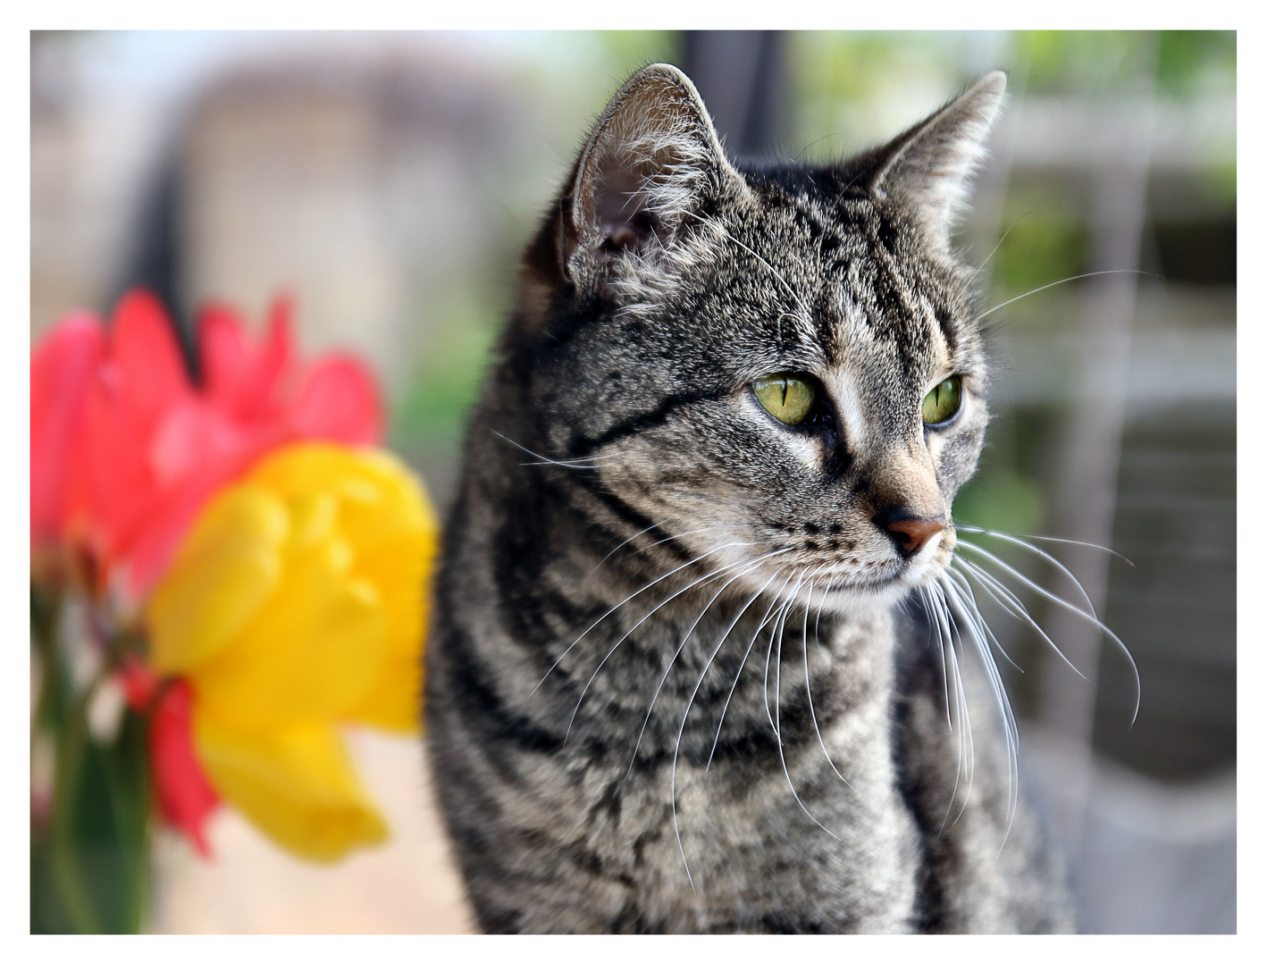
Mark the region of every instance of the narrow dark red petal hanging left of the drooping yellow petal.
POLYGON ((174 681, 163 691, 150 718, 150 760, 158 810, 189 836, 203 857, 210 857, 207 818, 219 798, 194 752, 190 690, 184 680, 174 681))

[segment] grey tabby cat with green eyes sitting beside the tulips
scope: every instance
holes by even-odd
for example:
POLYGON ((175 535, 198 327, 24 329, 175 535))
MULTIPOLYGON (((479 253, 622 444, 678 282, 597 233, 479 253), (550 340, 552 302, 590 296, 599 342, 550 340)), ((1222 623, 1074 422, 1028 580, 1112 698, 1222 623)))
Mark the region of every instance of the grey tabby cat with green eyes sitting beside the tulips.
POLYGON ((436 585, 426 723, 480 928, 1069 928, 1014 731, 968 729, 997 707, 946 579, 987 422, 949 230, 1003 87, 826 166, 732 163, 666 65, 599 118, 436 585))

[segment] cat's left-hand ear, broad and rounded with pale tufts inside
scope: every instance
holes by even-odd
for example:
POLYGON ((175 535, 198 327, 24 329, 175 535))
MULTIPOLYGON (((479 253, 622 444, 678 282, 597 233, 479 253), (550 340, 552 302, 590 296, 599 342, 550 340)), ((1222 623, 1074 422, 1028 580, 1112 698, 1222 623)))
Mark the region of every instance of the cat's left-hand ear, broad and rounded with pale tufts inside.
POLYGON ((598 119, 563 198, 565 275, 584 285, 622 253, 668 248, 727 177, 739 175, 691 79, 644 67, 598 119))

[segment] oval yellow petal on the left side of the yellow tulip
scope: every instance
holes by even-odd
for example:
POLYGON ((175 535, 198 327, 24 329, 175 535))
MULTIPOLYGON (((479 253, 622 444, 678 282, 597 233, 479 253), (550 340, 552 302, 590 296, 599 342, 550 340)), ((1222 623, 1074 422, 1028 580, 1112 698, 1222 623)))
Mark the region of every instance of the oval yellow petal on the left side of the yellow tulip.
POLYGON ((274 593, 289 529, 283 504, 255 486, 217 498, 150 598, 151 661, 182 675, 215 657, 274 593))

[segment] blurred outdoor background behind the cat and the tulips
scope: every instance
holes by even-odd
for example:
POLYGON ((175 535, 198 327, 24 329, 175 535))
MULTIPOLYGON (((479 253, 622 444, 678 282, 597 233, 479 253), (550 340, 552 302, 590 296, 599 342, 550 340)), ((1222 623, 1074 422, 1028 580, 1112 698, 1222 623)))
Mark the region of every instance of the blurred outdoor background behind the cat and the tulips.
MULTIPOLYGON (((732 153, 826 161, 1007 70, 1010 103, 959 233, 986 308, 998 306, 998 370, 955 518, 1120 553, 1036 543, 1078 576, 1139 672, 1131 726, 1135 679, 1112 641, 1017 589, 1078 676, 983 596, 1016 664, 1000 661, 1022 780, 1071 855, 1085 931, 1235 931, 1234 33, 30 43, 32 339, 136 284, 186 334, 210 296, 258 323, 289 290, 307 351, 350 347, 381 374, 390 443, 441 510, 518 251, 628 73, 659 60, 687 70, 732 153)), ((968 541, 1079 599, 1036 555, 968 541)), ((469 928, 418 748, 356 748, 390 845, 314 869, 222 813, 210 864, 160 838, 152 930, 469 928)))

